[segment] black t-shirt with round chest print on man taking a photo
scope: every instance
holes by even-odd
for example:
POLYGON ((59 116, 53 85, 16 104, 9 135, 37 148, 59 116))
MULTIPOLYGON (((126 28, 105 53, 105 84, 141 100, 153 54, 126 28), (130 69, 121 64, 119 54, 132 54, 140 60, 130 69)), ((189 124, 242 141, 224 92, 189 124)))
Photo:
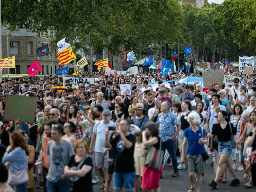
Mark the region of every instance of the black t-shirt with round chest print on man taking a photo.
POLYGON ((126 139, 132 143, 132 147, 129 149, 125 148, 124 141, 121 140, 120 135, 110 141, 112 147, 116 149, 115 172, 128 173, 135 171, 133 152, 136 139, 132 134, 126 136, 126 139))

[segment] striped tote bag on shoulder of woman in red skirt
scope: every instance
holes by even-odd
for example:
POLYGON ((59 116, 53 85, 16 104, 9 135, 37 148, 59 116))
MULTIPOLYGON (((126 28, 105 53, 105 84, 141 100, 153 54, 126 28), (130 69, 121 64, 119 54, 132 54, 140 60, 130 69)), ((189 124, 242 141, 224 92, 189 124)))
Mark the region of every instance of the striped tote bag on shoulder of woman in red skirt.
POLYGON ((160 170, 163 163, 164 151, 162 150, 162 141, 159 140, 160 146, 157 150, 153 145, 148 146, 148 151, 145 159, 145 167, 160 170))

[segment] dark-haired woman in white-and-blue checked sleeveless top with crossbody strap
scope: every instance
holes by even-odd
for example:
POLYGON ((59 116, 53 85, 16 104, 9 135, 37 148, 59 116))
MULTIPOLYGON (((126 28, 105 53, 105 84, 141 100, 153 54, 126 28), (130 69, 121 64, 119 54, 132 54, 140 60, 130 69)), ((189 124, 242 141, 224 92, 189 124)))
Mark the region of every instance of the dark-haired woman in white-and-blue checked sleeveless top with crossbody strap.
MULTIPOLYGON (((233 126, 237 130, 236 139, 238 140, 239 139, 239 135, 240 135, 240 125, 241 125, 241 122, 243 121, 243 118, 241 116, 241 114, 243 113, 242 106, 240 104, 236 103, 233 106, 232 113, 233 113, 233 115, 230 116, 230 123, 232 123, 233 126)), ((236 163, 236 150, 235 149, 232 150, 231 158, 234 161, 233 168, 234 168, 234 170, 237 170, 238 169, 238 165, 236 163)))

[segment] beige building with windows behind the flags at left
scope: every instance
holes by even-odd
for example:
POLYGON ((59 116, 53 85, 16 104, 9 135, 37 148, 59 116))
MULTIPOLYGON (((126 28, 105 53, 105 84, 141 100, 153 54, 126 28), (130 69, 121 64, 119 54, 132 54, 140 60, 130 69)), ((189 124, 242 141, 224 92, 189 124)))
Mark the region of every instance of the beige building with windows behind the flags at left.
MULTIPOLYGON (((16 74, 28 74, 27 68, 35 60, 38 60, 44 68, 44 70, 40 71, 38 74, 51 74, 51 64, 53 64, 53 73, 56 72, 56 69, 59 66, 56 58, 56 50, 53 56, 51 56, 51 54, 41 57, 36 56, 36 50, 47 43, 51 52, 49 38, 43 36, 38 37, 31 29, 17 29, 16 31, 13 31, 10 36, 7 36, 8 32, 5 29, 5 27, 2 27, 2 58, 15 55, 16 74)), ((4 68, 2 73, 14 74, 15 68, 4 68)))

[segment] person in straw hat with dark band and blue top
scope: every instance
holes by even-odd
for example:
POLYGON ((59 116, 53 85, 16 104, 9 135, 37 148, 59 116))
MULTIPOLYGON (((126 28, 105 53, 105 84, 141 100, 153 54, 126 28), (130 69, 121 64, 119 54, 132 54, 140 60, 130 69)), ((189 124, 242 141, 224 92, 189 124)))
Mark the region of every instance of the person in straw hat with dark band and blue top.
POLYGON ((144 125, 149 121, 149 118, 144 115, 146 112, 144 105, 142 103, 137 103, 137 105, 133 108, 133 110, 134 110, 134 117, 132 117, 132 120, 134 124, 140 127, 141 131, 144 131, 145 130, 144 125))

